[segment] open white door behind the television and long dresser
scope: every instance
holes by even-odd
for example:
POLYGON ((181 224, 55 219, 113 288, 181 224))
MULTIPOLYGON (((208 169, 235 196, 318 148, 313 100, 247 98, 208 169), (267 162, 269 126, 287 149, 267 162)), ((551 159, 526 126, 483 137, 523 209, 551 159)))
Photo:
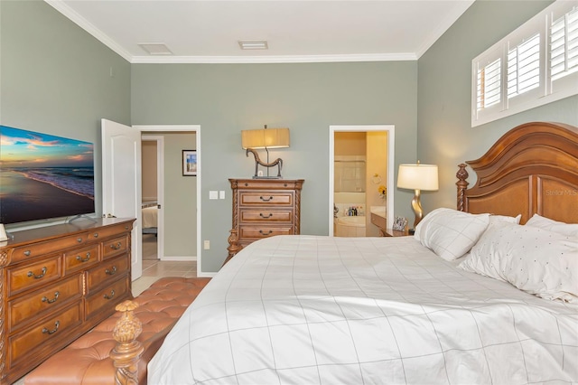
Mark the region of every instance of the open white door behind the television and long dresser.
POLYGON ((141 231, 141 132, 102 119, 102 213, 135 218, 132 232, 132 278, 143 274, 141 231))

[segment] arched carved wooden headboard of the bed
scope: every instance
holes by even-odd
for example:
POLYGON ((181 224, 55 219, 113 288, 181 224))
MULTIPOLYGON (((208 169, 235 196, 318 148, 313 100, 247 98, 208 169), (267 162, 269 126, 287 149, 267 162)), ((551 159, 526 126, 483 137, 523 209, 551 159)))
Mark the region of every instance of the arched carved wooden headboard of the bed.
POLYGON ((460 211, 517 216, 535 213, 578 223, 578 127, 533 122, 512 128, 480 159, 460 164, 460 211), (468 189, 470 164, 478 175, 468 189))

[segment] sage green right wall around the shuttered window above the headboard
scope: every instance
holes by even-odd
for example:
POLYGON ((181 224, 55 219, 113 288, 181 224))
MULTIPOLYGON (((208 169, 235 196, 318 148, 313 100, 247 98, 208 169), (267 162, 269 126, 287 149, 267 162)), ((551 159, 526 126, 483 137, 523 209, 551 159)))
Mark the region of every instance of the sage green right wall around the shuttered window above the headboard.
POLYGON ((419 59, 417 152, 423 163, 439 164, 440 174, 439 192, 422 193, 425 212, 455 208, 457 164, 478 159, 510 128, 531 121, 578 126, 574 96, 471 127, 472 59, 551 3, 478 0, 419 59))

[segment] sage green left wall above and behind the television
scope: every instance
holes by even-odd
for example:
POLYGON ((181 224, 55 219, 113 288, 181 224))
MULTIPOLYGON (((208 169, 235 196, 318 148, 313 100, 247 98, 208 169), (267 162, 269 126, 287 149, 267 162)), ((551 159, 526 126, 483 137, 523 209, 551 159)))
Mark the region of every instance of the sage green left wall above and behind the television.
POLYGON ((100 214, 100 119, 130 125, 130 64, 43 1, 0 1, 0 52, 0 124, 94 143, 100 214))

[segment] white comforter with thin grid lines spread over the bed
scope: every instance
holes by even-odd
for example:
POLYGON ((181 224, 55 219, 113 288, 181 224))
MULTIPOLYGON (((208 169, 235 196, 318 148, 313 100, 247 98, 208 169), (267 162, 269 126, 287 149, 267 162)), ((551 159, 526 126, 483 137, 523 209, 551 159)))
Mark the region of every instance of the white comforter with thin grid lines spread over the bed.
POLYGON ((456 268, 412 237, 252 243, 200 293, 148 383, 578 381, 578 307, 456 268))

